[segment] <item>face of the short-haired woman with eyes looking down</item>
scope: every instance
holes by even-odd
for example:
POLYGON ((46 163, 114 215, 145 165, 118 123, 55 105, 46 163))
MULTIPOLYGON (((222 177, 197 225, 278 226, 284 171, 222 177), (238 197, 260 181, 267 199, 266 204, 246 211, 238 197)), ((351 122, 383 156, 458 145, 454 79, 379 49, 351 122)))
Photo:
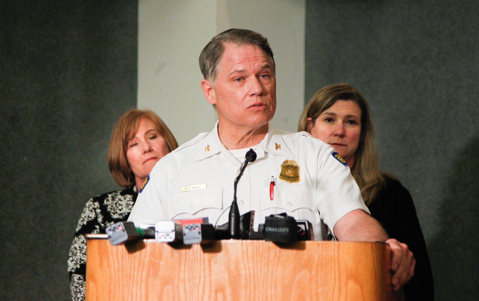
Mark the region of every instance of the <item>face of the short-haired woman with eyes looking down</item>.
POLYGON ((141 185, 156 162, 169 152, 168 144, 155 124, 148 118, 142 118, 126 150, 126 160, 135 174, 136 183, 141 185))

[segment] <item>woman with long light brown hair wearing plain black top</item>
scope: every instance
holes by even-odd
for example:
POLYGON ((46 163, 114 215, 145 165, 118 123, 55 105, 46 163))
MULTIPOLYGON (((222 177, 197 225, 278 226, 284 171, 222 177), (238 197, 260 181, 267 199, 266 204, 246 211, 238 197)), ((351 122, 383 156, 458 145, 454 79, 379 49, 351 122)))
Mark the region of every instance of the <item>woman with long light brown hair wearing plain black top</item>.
POLYGON ((405 300, 433 300, 433 275, 426 243, 409 191, 381 172, 369 106, 352 86, 339 83, 319 89, 306 105, 298 131, 330 144, 346 161, 371 216, 389 237, 409 246, 416 267, 403 287, 405 300))

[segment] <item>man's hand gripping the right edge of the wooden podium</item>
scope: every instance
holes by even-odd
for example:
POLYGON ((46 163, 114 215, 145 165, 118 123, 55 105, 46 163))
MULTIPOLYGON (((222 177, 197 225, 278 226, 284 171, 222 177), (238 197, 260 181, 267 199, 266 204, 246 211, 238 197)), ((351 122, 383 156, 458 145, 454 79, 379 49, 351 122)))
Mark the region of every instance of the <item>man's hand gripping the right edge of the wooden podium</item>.
POLYGON ((392 276, 393 290, 399 290, 414 275, 416 259, 406 244, 402 244, 394 238, 386 240, 391 247, 391 269, 394 272, 392 276))

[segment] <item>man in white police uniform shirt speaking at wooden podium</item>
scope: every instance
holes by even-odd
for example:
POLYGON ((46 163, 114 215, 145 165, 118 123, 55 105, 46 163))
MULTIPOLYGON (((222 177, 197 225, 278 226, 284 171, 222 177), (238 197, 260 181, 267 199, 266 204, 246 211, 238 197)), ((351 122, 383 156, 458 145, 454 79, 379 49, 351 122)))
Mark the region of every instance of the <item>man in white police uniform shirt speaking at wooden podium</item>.
POLYGON ((211 133, 198 135, 155 165, 128 220, 208 217, 210 223, 226 223, 234 179, 252 148, 257 159, 239 181, 238 205, 240 214, 255 211, 255 228, 265 216, 286 212, 309 220, 316 239, 325 236, 323 220, 339 240, 385 240, 393 253, 393 288, 411 279, 411 251, 388 239, 368 215, 347 164, 331 146, 305 132, 269 125, 276 109, 276 77, 266 38, 242 29, 222 32, 203 49, 200 68, 201 88, 218 122, 211 133))

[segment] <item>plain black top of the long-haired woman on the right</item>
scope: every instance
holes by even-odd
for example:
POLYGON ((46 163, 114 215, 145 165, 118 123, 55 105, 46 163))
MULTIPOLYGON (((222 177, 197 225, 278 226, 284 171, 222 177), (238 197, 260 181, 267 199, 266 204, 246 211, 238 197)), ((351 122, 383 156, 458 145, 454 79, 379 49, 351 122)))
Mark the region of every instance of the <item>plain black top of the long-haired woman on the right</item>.
POLYGON ((399 181, 386 177, 386 186, 368 208, 388 236, 408 245, 416 259, 414 276, 403 287, 405 300, 433 300, 431 263, 409 191, 399 181))

